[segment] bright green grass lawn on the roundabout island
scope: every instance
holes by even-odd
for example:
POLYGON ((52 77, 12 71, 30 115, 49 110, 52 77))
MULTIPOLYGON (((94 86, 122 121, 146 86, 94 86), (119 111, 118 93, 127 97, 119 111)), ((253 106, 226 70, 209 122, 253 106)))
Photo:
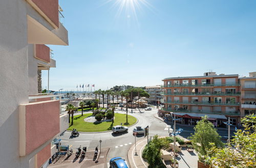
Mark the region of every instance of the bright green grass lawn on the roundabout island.
MULTIPOLYGON (((83 116, 74 116, 74 124, 68 128, 68 130, 73 130, 76 128, 77 131, 82 132, 98 132, 98 131, 109 131, 112 130, 113 126, 120 125, 123 123, 123 126, 130 126, 136 123, 137 119, 133 116, 128 115, 128 119, 126 122, 126 115, 125 114, 115 114, 114 123, 112 121, 109 122, 102 122, 102 123, 89 123, 85 122, 83 119, 92 116, 90 114, 84 114, 83 116)), ((70 118, 71 124, 71 118, 70 118)))

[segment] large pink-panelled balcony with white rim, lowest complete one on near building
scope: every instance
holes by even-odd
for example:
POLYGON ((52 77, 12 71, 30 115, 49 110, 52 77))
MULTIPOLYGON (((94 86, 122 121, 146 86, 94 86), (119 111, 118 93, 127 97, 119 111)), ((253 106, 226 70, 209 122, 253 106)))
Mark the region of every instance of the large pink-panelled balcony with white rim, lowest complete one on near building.
POLYGON ((61 95, 36 95, 19 105, 19 153, 26 156, 60 132, 61 95), (57 97, 59 97, 59 100, 57 97))

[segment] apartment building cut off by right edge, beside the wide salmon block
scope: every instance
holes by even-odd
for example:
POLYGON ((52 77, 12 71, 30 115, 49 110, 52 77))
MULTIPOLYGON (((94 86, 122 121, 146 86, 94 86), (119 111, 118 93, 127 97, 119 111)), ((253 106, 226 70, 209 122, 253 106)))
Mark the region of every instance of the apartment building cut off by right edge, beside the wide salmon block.
POLYGON ((256 72, 250 72, 249 77, 241 77, 241 117, 256 115, 256 72))

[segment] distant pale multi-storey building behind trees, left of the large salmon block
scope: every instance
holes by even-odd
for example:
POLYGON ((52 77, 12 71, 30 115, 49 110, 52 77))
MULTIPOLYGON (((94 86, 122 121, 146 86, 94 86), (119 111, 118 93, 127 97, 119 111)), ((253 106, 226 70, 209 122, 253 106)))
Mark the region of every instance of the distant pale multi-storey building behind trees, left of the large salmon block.
POLYGON ((150 97, 145 99, 149 104, 160 105, 163 103, 163 88, 160 85, 146 87, 145 91, 150 94, 150 97))

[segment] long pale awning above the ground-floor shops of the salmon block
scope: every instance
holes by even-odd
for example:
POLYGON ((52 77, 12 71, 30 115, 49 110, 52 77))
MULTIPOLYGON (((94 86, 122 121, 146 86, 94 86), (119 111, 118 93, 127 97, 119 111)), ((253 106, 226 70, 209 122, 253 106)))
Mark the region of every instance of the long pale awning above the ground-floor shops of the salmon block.
POLYGON ((184 117, 184 118, 197 118, 201 119, 201 117, 204 117, 205 115, 208 116, 208 120, 216 120, 216 119, 225 119, 227 120, 226 116, 224 115, 211 115, 211 114, 187 114, 187 113, 175 113, 178 117, 184 117))

